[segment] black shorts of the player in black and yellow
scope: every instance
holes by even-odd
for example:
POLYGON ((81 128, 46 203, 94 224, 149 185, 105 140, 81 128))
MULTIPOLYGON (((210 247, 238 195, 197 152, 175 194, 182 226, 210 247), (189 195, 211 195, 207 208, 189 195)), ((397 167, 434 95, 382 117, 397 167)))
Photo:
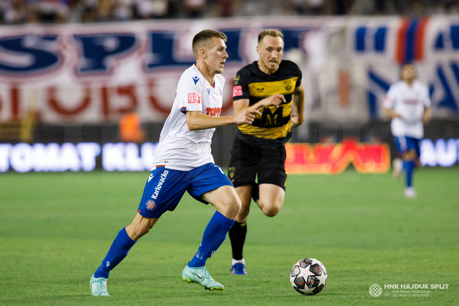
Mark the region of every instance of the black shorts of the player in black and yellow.
POLYGON ((285 190, 285 146, 264 148, 235 137, 228 178, 234 187, 250 185, 258 176, 258 184, 274 184, 285 190))

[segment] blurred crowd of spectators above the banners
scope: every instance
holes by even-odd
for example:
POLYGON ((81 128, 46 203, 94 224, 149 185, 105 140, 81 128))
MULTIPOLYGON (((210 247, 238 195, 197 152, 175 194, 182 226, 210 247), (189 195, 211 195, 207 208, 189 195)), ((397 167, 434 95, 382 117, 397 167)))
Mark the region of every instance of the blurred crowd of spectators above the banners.
POLYGON ((0 0, 2 24, 458 11, 458 0, 0 0))

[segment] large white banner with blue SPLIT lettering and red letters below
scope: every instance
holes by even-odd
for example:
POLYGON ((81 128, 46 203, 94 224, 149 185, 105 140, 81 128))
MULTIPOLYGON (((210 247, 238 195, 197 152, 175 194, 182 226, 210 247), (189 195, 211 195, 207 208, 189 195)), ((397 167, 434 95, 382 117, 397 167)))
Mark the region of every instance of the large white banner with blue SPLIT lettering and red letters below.
POLYGON ((284 32, 285 50, 302 50, 305 34, 319 30, 329 18, 293 21, 0 27, 0 120, 20 118, 33 110, 48 123, 117 122, 127 112, 137 112, 143 122, 163 122, 181 74, 196 62, 192 39, 207 28, 228 36, 221 113, 232 113, 235 73, 258 59, 260 31, 279 28, 284 32))

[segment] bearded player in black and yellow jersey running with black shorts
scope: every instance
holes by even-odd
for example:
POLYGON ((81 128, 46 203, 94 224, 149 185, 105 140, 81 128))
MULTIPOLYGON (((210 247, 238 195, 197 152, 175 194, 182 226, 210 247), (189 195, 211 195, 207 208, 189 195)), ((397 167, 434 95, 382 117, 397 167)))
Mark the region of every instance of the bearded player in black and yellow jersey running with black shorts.
POLYGON ((242 248, 251 197, 268 217, 280 210, 285 196, 285 143, 291 127, 304 122, 304 89, 301 70, 292 61, 282 61, 282 32, 264 30, 258 35, 259 61, 236 74, 233 88, 235 114, 254 109, 261 112, 252 125, 238 126, 233 142, 228 177, 241 199, 241 211, 229 230, 233 249, 232 274, 247 274, 242 248), (291 105, 297 114, 291 114, 291 105), (257 184, 255 177, 257 176, 257 184))

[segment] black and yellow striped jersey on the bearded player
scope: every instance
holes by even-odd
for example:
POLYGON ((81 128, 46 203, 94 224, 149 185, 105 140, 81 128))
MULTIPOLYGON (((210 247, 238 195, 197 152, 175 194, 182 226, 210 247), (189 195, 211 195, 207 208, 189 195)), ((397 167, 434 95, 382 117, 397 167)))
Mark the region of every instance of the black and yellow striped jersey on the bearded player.
POLYGON ((291 137, 291 96, 301 84, 301 70, 292 61, 281 61, 279 69, 266 74, 258 68, 257 61, 243 67, 236 73, 233 101, 249 99, 249 106, 271 95, 284 95, 285 103, 279 108, 264 107, 261 116, 256 116, 252 124, 238 126, 238 136, 257 145, 271 146, 273 143, 285 145, 291 137))

